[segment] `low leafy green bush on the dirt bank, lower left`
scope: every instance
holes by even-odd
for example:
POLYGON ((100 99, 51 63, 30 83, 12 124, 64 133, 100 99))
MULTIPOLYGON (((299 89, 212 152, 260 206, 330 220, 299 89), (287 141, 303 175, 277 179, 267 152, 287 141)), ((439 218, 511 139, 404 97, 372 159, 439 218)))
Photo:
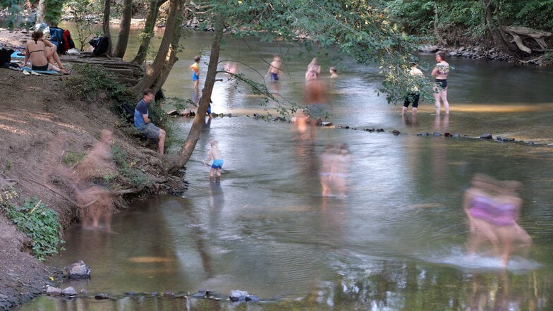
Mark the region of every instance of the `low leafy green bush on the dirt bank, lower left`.
POLYGON ((37 260, 58 253, 58 245, 65 243, 60 238, 61 225, 58 214, 36 197, 25 200, 23 206, 4 205, 4 213, 18 229, 32 240, 32 252, 37 260))

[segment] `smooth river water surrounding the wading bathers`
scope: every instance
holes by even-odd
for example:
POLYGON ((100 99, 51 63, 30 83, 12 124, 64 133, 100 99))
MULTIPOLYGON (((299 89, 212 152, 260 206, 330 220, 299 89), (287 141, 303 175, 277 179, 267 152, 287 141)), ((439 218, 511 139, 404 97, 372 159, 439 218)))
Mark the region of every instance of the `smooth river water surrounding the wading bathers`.
MULTIPOLYGON (((209 39, 206 32, 186 33, 166 96, 190 97, 188 66, 201 52, 205 73, 209 39)), ((135 49, 131 42, 131 54, 135 49)), ((238 72, 260 82, 275 52, 283 55, 285 73, 268 87, 300 103, 315 52, 225 38, 221 60, 242 62, 238 72)), ((410 113, 401 117, 401 104, 375 94, 377 68, 321 55, 323 68, 339 70, 339 78, 327 80, 332 122, 350 129, 317 128, 314 143, 296 140, 289 123, 248 117, 264 107, 247 87, 216 83, 212 109, 233 117, 205 126, 186 165, 186 193, 116 214, 114 232, 75 226, 66 231, 66 250, 47 262, 62 268, 84 260, 92 279, 61 287, 114 299, 42 297, 18 310, 553 310, 553 160, 547 146, 553 142, 553 71, 448 59, 455 68, 451 116, 436 116, 433 104, 423 102, 413 120, 410 113), (394 129, 401 134, 391 134, 394 129), (469 138, 416 135, 425 132, 469 138), (482 133, 525 142, 472 139, 482 133), (219 185, 209 183, 201 163, 212 139, 225 160, 219 185), (320 155, 325 145, 341 142, 353 159, 347 196, 322 197, 320 155), (467 255, 461 202, 475 173, 523 184, 519 224, 533 245, 528 255, 515 253, 506 269, 489 252, 467 255), (264 303, 152 294, 209 290, 224 298, 236 289, 264 303)), ((191 122, 176 120, 183 137, 191 122)))

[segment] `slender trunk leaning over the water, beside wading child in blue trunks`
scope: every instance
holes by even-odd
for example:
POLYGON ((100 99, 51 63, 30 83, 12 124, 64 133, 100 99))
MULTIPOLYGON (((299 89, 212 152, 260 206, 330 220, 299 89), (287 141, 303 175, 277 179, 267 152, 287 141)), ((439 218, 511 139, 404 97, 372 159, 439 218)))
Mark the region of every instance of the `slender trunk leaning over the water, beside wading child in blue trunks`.
POLYGON ((205 75, 202 100, 200 100, 200 106, 197 108, 194 122, 192 126, 190 126, 186 142, 184 142, 183 147, 181 147, 178 158, 174 161, 171 169, 169 169, 169 173, 175 173, 178 169, 185 166, 190 156, 192 156, 197 141, 200 140, 200 132, 205 124, 205 114, 207 112, 207 106, 209 106, 209 99, 211 98, 215 77, 217 75, 217 63, 219 63, 219 51, 221 49, 221 39, 223 37, 223 23, 224 18, 219 17, 215 24, 215 33, 211 44, 211 54, 209 55, 209 64, 207 65, 207 73, 205 75))

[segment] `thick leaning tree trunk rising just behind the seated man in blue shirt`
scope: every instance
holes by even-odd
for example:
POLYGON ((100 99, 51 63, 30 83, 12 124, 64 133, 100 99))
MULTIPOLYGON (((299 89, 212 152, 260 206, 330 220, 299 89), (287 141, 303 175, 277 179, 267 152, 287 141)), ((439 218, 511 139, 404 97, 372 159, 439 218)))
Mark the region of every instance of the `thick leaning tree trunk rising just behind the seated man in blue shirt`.
MULTIPOLYGON (((175 28, 179 28, 178 16, 181 14, 178 11, 180 0, 171 0, 169 2, 169 14, 167 16, 167 23, 165 26, 165 32, 163 34, 162 43, 159 45, 157 54, 154 59, 152 66, 147 69, 146 74, 138 81, 138 83, 131 89, 135 94, 140 94, 143 90, 151 88, 154 85, 154 82, 159 79, 160 73, 162 73, 162 68, 166 63, 166 56, 169 53, 171 48, 171 42, 173 42, 173 35, 175 28)), ((169 73, 167 73, 169 74, 169 73)))

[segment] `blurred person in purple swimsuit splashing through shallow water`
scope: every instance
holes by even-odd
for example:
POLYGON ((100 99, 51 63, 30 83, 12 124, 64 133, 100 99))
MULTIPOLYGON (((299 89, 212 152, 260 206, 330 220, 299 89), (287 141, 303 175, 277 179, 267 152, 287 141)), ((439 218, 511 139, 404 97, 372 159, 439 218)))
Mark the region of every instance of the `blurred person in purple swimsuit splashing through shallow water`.
POLYGON ((483 174, 474 176, 463 198, 470 226, 471 253, 489 241, 494 255, 501 257, 502 266, 506 267, 516 244, 528 249, 532 238, 516 223, 522 206, 517 193, 520 187, 518 181, 497 181, 483 174))

